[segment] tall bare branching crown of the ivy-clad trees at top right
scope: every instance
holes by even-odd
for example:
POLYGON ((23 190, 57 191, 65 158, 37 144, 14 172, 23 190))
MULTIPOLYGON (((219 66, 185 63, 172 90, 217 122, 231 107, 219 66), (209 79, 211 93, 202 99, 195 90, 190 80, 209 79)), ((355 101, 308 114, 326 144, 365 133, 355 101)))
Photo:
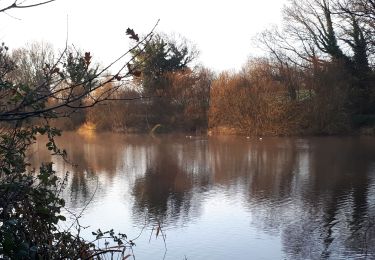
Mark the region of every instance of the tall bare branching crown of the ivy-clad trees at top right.
MULTIPOLYGON (((328 68, 328 63, 337 63, 333 67, 351 75, 348 107, 354 113, 369 111, 374 46, 372 4, 366 0, 290 0, 283 10, 283 27, 260 34, 261 45, 289 82, 291 97, 295 82, 290 79, 295 77, 288 79, 287 75, 292 71, 299 68, 306 76, 316 78, 328 68)), ((310 83, 320 91, 318 81, 310 83)))

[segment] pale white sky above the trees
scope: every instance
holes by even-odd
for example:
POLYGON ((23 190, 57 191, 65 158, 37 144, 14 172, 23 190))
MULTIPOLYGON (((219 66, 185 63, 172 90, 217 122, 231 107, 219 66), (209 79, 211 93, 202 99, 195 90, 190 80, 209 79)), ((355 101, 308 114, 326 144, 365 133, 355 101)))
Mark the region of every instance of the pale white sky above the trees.
MULTIPOLYGON (((2 0, 0 7, 14 0, 2 0)), ((26 0, 32 4, 37 0, 26 0)), ((130 27, 147 34, 181 35, 199 50, 198 63, 215 71, 238 70, 259 55, 253 39, 281 21, 286 0, 56 0, 0 14, 0 41, 11 49, 44 41, 62 49, 66 41, 90 51, 103 65, 130 46, 130 27)))

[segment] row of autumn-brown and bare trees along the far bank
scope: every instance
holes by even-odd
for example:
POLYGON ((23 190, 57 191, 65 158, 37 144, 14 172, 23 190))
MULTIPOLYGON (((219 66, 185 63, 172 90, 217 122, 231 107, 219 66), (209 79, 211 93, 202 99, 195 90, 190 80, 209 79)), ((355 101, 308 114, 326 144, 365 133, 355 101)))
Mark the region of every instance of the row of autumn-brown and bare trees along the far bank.
MULTIPOLYGON (((164 132, 254 135, 339 134, 371 126, 374 17, 371 0, 290 0, 283 25, 256 37, 263 57, 250 59, 239 72, 214 73, 194 65, 193 45, 155 34, 132 49, 130 79, 115 75, 115 81, 74 101, 88 109, 55 124, 66 130, 89 123, 103 131, 148 132, 159 126, 164 132), (92 107, 96 97, 103 102, 92 107)), ((43 74, 51 50, 36 49, 13 51, 18 82, 35 84, 43 74)), ((84 57, 71 53, 76 56, 71 60, 84 57)), ((81 63, 74 66, 83 69, 85 59, 81 63)), ((84 81, 80 74, 72 76, 84 81)), ((95 88, 102 81, 87 84, 95 88)), ((76 94, 85 92, 79 88, 76 94)), ((68 92, 61 95, 72 95, 68 92)))

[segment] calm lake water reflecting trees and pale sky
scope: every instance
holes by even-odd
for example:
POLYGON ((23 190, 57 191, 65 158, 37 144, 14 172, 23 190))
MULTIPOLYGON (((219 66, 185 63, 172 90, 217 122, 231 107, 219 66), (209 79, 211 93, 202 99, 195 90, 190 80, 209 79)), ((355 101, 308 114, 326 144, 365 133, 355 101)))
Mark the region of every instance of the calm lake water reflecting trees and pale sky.
POLYGON ((58 143, 76 166, 43 140, 31 163, 69 172, 64 198, 85 208, 86 236, 140 235, 137 260, 375 259, 375 138, 65 133, 58 143))

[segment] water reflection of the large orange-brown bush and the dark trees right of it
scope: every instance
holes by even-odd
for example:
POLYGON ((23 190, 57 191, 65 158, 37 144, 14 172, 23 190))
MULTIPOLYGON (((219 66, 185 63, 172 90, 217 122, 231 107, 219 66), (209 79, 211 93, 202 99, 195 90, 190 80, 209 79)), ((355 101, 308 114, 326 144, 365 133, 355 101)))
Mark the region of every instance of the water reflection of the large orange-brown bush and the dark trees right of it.
POLYGON ((374 232, 369 219, 375 217, 369 211, 373 140, 271 138, 242 145, 221 141, 210 148, 215 181, 241 180, 236 183, 243 189, 237 191, 248 196, 252 225, 281 233, 290 258, 375 253, 368 244, 374 240, 369 235, 374 232))

